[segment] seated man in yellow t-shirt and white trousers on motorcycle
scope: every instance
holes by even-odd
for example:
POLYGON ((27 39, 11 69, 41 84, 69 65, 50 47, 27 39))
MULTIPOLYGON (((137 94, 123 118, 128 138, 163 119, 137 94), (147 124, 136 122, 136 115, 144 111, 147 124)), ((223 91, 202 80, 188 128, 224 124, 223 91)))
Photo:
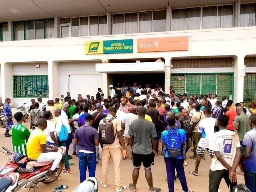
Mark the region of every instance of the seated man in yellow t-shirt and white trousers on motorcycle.
POLYGON ((56 146, 46 144, 46 134, 43 133, 46 127, 46 119, 39 119, 38 128, 34 129, 28 138, 27 156, 30 159, 37 159, 37 162, 53 161, 47 177, 56 180, 58 177, 53 175, 53 172, 62 160, 62 155, 57 152, 58 148, 56 146))

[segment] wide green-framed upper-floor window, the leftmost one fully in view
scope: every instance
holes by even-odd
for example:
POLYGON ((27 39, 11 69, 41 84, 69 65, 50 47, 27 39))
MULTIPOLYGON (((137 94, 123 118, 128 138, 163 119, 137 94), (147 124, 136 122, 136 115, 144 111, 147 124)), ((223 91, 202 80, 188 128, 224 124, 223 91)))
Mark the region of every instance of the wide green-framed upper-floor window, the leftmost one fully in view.
POLYGON ((54 20, 14 23, 14 40, 53 38, 54 20))

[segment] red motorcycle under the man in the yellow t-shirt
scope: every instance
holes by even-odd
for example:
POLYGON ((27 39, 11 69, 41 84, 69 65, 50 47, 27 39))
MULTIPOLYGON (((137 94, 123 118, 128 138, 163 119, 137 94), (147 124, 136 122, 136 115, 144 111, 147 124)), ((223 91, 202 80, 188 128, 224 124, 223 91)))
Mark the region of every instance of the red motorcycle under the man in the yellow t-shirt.
MULTIPOLYGON (((36 191, 37 184, 39 182, 48 184, 55 181, 47 177, 47 174, 50 168, 52 167, 53 161, 37 162, 37 160, 27 158, 26 156, 20 153, 12 152, 6 149, 5 147, 2 147, 2 149, 6 151, 5 154, 8 156, 9 160, 0 167, 0 177, 6 176, 11 172, 18 173, 19 178, 17 186, 15 187, 14 191, 20 191, 23 188, 27 188, 28 190, 33 189, 34 191, 36 191), (24 169, 19 167, 19 165, 22 164, 26 165, 27 162, 30 162, 30 169, 24 169)), ((61 153, 62 156, 64 156, 66 153, 66 148, 59 147, 58 152, 61 153)), ((60 162, 53 174, 59 177, 62 172, 62 167, 63 164, 62 162, 60 162)))

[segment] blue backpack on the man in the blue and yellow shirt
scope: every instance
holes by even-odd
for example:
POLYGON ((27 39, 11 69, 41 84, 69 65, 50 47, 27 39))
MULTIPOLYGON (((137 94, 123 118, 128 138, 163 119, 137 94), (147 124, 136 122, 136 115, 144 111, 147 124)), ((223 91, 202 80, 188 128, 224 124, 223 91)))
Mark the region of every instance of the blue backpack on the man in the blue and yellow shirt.
POLYGON ((182 155, 182 138, 178 129, 171 128, 168 131, 166 147, 170 158, 182 155))

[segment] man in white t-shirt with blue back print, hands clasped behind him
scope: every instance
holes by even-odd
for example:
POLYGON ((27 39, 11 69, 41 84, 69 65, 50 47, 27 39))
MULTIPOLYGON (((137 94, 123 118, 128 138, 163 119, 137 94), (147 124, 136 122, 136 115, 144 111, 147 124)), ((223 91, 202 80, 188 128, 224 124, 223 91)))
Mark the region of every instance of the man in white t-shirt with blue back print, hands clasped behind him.
POLYGON ((229 118, 221 115, 217 120, 219 132, 210 139, 209 149, 214 151, 209 171, 209 192, 217 192, 224 178, 230 191, 237 185, 236 168, 241 159, 241 147, 238 134, 226 129, 229 118))

